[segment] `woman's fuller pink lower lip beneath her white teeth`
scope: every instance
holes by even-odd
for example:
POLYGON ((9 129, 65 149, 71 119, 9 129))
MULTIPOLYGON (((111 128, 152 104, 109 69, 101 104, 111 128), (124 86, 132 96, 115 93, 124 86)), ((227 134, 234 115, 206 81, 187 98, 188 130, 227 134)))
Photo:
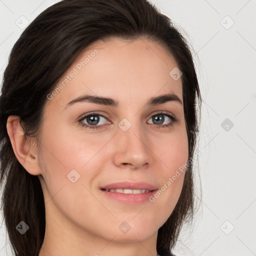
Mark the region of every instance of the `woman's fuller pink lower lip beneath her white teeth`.
POLYGON ((138 204, 138 203, 143 203, 145 201, 149 201, 149 197, 154 195, 157 189, 147 193, 139 193, 139 194, 124 194, 124 193, 118 193, 118 192, 110 192, 102 189, 100 189, 100 191, 103 192, 104 195, 108 196, 109 198, 115 199, 119 202, 138 204))

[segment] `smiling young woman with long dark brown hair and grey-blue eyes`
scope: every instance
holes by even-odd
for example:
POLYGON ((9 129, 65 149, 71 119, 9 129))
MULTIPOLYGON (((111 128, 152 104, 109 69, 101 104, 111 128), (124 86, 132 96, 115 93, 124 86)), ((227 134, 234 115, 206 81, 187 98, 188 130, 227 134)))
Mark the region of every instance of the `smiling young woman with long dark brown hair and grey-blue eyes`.
POLYGON ((197 103, 188 43, 148 1, 63 0, 39 14, 0 96, 15 255, 172 255, 194 209, 197 103))

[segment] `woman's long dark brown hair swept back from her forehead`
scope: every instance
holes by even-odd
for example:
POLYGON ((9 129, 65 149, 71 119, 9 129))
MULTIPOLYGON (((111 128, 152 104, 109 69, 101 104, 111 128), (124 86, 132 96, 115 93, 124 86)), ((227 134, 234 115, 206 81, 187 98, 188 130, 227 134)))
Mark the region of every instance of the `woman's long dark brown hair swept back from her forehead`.
MULTIPOLYGON (((90 43, 118 36, 141 36, 164 46, 182 71, 183 106, 194 155, 201 96, 186 39, 166 15, 147 0, 62 0, 41 12, 14 44, 4 71, 0 95, 0 184, 3 217, 16 256, 38 255, 45 232, 45 206, 39 179, 18 162, 6 130, 9 115, 18 115, 26 136, 39 136, 46 95, 90 43), (199 106, 197 108, 197 106, 199 106), (15 226, 24 220, 29 230, 15 226)), ((39 147, 38 147, 39 148, 39 147)), ((158 229, 156 249, 170 255, 182 223, 194 212, 192 162, 187 165, 180 197, 158 229)))

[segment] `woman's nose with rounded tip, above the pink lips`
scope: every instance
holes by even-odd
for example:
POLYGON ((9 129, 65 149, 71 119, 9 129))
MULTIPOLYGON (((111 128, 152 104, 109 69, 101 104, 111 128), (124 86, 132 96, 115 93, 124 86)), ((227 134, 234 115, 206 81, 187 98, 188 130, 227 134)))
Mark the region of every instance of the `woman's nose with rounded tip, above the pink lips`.
POLYGON ((148 139, 139 124, 132 124, 126 131, 118 127, 113 146, 114 164, 118 167, 144 168, 152 160, 148 139))

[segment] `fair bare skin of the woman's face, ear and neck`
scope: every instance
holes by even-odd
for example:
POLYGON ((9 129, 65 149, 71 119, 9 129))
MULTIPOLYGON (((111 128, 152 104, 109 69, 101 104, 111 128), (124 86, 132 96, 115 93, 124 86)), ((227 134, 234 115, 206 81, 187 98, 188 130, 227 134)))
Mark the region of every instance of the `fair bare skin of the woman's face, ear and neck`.
MULTIPOLYGON (((38 175, 45 197, 46 230, 39 256, 156 255, 157 230, 178 200, 184 173, 154 202, 121 203, 103 195, 99 186, 128 180, 160 189, 187 162, 183 105, 176 101, 146 105, 150 97, 170 92, 182 101, 181 78, 169 75, 177 64, 156 42, 111 38, 85 49, 59 82, 95 48, 98 53, 86 66, 47 100, 39 155, 25 138, 18 116, 7 121, 15 155, 30 174, 38 175), (84 101, 65 108, 84 94, 114 98, 119 106, 84 101), (78 121, 92 111, 107 116, 98 116, 97 129, 78 121), (159 111, 178 121, 161 127, 172 120, 164 115, 162 123, 153 122, 159 111), (118 126, 123 118, 131 123, 127 131, 118 126), (67 178, 72 169, 80 174, 74 183, 67 178), (131 227, 125 234, 118 228, 123 221, 131 227)), ((83 123, 91 124, 88 118, 83 123)))

